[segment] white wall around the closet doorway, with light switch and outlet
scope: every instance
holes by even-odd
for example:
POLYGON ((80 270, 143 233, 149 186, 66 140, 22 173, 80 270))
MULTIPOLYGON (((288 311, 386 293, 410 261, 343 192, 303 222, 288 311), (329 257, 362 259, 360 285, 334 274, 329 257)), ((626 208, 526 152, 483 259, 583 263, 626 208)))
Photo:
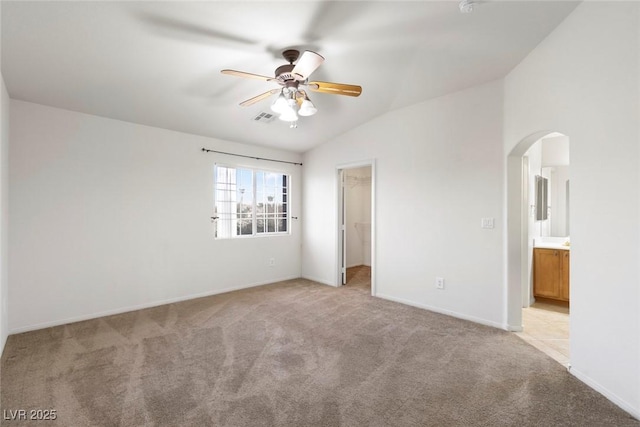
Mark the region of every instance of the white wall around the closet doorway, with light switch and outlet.
POLYGON ((336 165, 373 158, 377 296, 502 326, 502 102, 502 82, 490 83, 307 152, 303 276, 336 284, 336 165), (480 228, 483 217, 496 228, 480 228))

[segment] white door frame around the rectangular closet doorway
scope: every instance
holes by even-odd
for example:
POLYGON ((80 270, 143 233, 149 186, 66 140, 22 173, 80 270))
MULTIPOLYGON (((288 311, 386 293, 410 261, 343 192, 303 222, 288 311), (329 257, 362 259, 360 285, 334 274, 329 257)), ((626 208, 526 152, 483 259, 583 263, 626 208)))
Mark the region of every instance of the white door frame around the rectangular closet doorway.
MULTIPOLYGON (((365 159, 357 162, 341 163, 336 165, 336 274, 335 286, 342 286, 342 269, 345 260, 345 243, 343 239, 342 218, 345 204, 343 199, 342 177, 347 169, 371 167, 371 295, 376 296, 376 162, 375 159, 365 159)), ((344 265, 346 269, 346 265, 344 265)), ((346 270, 345 270, 346 271, 346 270)), ((345 272, 346 274, 346 272, 345 272)))

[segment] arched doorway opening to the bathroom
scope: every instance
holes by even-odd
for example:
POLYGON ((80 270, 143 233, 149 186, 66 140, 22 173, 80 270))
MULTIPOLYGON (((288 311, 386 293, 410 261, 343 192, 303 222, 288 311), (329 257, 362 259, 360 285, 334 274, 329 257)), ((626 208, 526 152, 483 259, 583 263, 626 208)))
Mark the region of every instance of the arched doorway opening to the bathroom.
POLYGON ((560 260, 568 261, 570 253, 569 139, 557 132, 532 135, 516 146, 507 168, 508 215, 520 217, 520 221, 510 221, 508 231, 508 322, 522 339, 568 365, 570 275, 569 263, 560 260), (536 273, 544 276, 537 286, 543 282, 546 286, 547 272, 555 270, 536 264, 534 254, 558 255, 547 258, 558 261, 559 281, 553 285, 558 295, 544 294, 541 288, 536 291, 536 273), (563 285, 560 276, 565 274, 563 285))

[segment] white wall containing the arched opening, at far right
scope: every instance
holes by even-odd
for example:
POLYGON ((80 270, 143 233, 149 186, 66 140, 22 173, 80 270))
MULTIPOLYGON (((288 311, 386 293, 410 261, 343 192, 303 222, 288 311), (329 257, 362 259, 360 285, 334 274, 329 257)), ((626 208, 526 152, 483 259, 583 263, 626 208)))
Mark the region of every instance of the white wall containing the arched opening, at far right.
POLYGON ((571 141, 571 372, 636 417, 639 50, 640 4, 584 2, 507 76, 504 108, 505 154, 543 130, 571 141))

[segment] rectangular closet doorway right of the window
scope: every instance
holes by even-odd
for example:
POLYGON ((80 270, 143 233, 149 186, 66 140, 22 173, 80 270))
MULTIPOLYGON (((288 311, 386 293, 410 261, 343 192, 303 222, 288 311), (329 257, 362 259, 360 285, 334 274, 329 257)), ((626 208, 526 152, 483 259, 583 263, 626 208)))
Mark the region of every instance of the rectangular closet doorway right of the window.
POLYGON ((374 165, 338 168, 338 286, 367 288, 375 295, 374 165))

